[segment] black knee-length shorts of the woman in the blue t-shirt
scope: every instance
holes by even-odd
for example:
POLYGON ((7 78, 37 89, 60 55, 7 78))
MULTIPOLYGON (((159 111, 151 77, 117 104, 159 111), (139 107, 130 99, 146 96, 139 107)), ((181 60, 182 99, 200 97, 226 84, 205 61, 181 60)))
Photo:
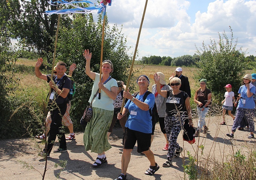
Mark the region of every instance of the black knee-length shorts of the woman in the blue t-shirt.
POLYGON ((125 135, 123 137, 123 148, 133 149, 136 144, 136 141, 138 145, 138 153, 149 150, 149 147, 151 145, 151 133, 142 133, 125 127, 125 135))

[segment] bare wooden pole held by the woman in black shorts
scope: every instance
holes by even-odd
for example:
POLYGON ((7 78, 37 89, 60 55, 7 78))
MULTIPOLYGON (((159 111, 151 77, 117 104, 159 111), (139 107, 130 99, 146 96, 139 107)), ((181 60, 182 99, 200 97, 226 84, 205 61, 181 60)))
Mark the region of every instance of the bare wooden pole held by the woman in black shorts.
MULTIPOLYGON (((135 50, 134 50, 133 61, 131 62, 130 73, 129 73, 129 77, 128 77, 128 80, 127 80, 125 91, 127 91, 128 87, 129 87, 131 73, 133 72, 133 64, 134 64, 136 53, 137 53, 137 48, 138 48, 138 44, 139 44, 139 36, 141 35, 141 29, 142 29, 142 24, 143 24, 145 12, 146 12, 146 7, 147 7, 147 0, 146 0, 146 3, 145 3, 145 7, 144 7, 142 19, 141 19, 141 26, 139 27, 139 33, 138 33, 137 42, 136 42, 136 46, 135 46, 135 50)), ((125 106, 125 99, 126 98, 123 98, 123 103, 122 103, 122 107, 121 107, 121 110, 120 110, 120 114, 122 114, 123 107, 125 106)))

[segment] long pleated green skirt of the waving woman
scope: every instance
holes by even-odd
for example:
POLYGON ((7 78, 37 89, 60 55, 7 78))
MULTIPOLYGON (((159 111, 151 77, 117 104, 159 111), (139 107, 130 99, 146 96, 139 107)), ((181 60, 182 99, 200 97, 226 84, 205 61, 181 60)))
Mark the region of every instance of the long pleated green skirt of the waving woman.
POLYGON ((114 111, 93 107, 93 117, 85 128, 83 143, 85 150, 101 154, 111 148, 107 140, 107 130, 111 125, 114 111))

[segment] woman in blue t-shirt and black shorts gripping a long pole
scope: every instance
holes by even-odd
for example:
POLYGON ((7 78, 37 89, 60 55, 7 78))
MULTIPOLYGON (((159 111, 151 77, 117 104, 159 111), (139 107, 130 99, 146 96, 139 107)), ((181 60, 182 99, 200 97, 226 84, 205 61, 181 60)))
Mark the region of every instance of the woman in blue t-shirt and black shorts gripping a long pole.
POLYGON ((155 96, 147 91, 150 82, 146 75, 139 76, 136 82, 139 86, 139 93, 133 96, 128 91, 123 91, 123 97, 129 100, 123 108, 122 114, 119 112, 117 115, 117 118, 121 119, 128 111, 130 112, 123 136, 122 171, 115 180, 127 179, 126 171, 136 141, 138 153, 143 152, 150 161, 149 169, 146 170, 145 174, 153 175, 159 169, 159 165, 155 162, 154 153, 150 150, 152 133, 150 111, 152 112, 155 96))

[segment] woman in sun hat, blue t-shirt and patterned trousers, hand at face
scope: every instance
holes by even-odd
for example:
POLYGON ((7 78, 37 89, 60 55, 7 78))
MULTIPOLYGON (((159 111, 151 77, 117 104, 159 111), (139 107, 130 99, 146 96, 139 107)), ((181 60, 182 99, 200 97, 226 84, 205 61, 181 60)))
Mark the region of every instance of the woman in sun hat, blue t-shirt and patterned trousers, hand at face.
POLYGON ((240 122, 243 116, 246 116, 246 119, 249 124, 250 135, 249 139, 254 138, 254 121, 253 115, 255 111, 255 102, 253 100, 253 95, 255 95, 255 86, 251 84, 251 75, 246 74, 243 77, 243 85, 239 88, 239 95, 234 106, 237 107, 237 114, 235 115, 234 123, 231 128, 232 133, 226 134, 227 136, 233 138, 235 130, 240 126, 240 122))

